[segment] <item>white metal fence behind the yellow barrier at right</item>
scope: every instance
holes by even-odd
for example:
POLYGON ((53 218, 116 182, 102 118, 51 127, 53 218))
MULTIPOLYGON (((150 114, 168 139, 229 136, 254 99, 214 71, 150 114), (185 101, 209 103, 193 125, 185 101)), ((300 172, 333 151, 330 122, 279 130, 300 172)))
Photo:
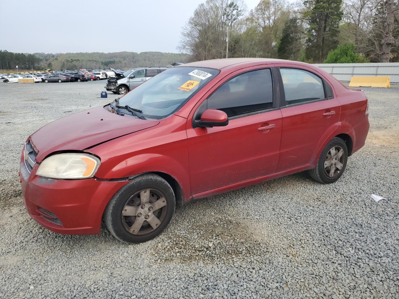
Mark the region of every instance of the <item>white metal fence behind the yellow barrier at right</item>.
POLYGON ((318 63, 339 81, 350 81, 352 76, 389 76, 389 82, 399 83, 399 62, 391 63, 318 63))

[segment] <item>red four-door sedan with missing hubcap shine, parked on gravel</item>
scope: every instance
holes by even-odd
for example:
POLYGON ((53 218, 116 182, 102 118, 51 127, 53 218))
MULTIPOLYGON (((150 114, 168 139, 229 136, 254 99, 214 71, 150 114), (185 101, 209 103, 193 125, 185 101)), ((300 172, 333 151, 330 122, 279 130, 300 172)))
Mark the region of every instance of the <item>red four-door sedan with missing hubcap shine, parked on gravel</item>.
POLYGON ((364 145, 367 98, 312 65, 220 59, 168 69, 111 104, 34 132, 29 214, 63 234, 160 234, 176 205, 309 171, 334 183, 364 145))

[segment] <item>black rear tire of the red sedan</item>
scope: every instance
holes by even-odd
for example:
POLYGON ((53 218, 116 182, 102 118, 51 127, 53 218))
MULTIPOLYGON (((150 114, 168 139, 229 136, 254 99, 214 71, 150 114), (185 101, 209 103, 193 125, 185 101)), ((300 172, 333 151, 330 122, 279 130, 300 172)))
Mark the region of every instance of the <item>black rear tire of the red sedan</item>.
POLYGON ((346 143, 341 138, 334 137, 323 149, 319 159, 317 160, 316 167, 314 169, 310 169, 308 173, 312 179, 319 183, 334 183, 341 177, 342 173, 344 173, 347 161, 348 148, 346 143), (331 150, 333 148, 334 152, 336 152, 335 155, 331 154, 331 150), (341 156, 339 156, 340 149, 343 150, 341 156), (337 166, 337 163, 339 166, 337 166), (329 164, 330 166, 328 166, 329 164), (332 167, 334 168, 332 169, 332 167), (341 169, 339 169, 339 167, 341 167, 341 169))

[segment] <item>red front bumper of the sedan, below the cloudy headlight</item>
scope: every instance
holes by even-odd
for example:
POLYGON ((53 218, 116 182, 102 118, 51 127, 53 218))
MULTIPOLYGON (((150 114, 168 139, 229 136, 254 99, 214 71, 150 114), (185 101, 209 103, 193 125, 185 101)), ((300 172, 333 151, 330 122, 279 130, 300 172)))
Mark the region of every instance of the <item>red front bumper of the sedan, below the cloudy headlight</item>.
POLYGON ((36 175, 38 167, 29 172, 22 153, 20 183, 29 215, 53 232, 99 234, 107 203, 127 181, 47 179, 36 175))

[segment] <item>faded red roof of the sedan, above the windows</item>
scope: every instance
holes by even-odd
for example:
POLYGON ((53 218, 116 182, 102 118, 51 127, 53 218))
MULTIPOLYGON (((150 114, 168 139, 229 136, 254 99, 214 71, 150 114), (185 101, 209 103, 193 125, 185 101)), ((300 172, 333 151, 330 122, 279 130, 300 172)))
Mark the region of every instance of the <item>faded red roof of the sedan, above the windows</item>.
MULTIPOLYGON (((186 63, 184 65, 178 65, 176 67, 206 67, 209 69, 224 69, 232 67, 237 64, 247 64, 248 66, 250 66, 257 63, 271 64, 279 62, 288 62, 288 60, 274 59, 274 58, 223 58, 223 59, 196 61, 196 62, 186 63)), ((291 63, 294 61, 289 61, 289 62, 291 63)))

